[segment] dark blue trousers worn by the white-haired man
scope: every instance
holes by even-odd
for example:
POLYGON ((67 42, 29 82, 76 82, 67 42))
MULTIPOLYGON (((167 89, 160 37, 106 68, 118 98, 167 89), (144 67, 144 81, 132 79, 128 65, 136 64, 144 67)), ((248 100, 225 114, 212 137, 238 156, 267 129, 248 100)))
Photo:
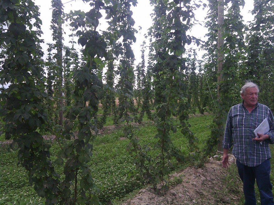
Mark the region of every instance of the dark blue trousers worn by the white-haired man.
POLYGON ((270 182, 270 161, 265 160, 256 167, 248 167, 238 160, 236 161, 238 173, 243 181, 243 193, 245 195, 245 205, 256 205, 255 179, 260 191, 261 205, 274 205, 272 184, 270 182))

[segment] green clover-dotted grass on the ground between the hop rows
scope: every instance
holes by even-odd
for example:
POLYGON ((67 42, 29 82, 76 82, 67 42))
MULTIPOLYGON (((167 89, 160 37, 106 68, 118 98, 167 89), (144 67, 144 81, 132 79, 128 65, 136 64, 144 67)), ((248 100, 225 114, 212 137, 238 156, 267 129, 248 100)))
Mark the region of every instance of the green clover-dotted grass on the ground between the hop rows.
MULTIPOLYGON (((109 120, 111 122, 111 119, 109 120)), ((206 139, 210 136, 209 126, 212 122, 212 116, 203 115, 199 117, 190 117, 191 131, 198 141, 198 147, 205 145, 206 139)), ((153 125, 140 127, 136 132, 142 144, 154 144, 157 141, 154 138, 156 128, 153 125)), ((90 161, 90 167, 93 169, 94 182, 100 188, 100 200, 103 204, 119 204, 121 199, 132 196, 136 190, 143 188, 144 181, 138 178, 138 171, 132 165, 132 157, 126 152, 126 145, 129 140, 120 140, 123 137, 121 130, 115 130, 111 134, 97 136, 94 142, 93 157, 90 161)), ((188 140, 180 132, 171 134, 172 141, 186 156, 189 155, 188 140)), ((51 147, 52 159, 57 155, 58 146, 53 143, 51 147)), ((274 153, 272 153, 274 154, 274 153)), ((191 155, 194 156, 195 155, 191 155)), ((188 158, 190 159, 190 158, 188 158)), ((193 161, 185 163, 174 162, 174 171, 184 169, 193 161)), ((57 171, 62 172, 62 167, 57 167, 57 171)), ((225 190, 237 191, 235 186, 237 170, 231 166, 229 175, 225 177, 224 183, 227 184, 225 190), (233 178, 235 177, 235 178, 233 178)), ((273 179, 273 176, 271 176, 273 179)), ((180 181, 175 181, 180 183, 180 181)), ((225 193, 223 190, 223 193, 225 193)), ((28 184, 28 176, 21 165, 17 165, 17 150, 8 150, 0 147, 0 205, 27 205, 43 204, 44 200, 37 196, 33 188, 28 184)))

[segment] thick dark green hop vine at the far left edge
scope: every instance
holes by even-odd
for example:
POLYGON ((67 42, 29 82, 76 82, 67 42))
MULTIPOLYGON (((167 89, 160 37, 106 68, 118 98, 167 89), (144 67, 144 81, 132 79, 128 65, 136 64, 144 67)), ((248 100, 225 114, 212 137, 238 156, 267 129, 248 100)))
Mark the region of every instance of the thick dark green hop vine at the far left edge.
POLYGON ((47 127, 44 99, 41 20, 31 0, 0 2, 1 44, 7 45, 1 70, 0 116, 5 121, 5 138, 19 147, 18 163, 29 173, 29 182, 46 204, 56 204, 61 195, 59 175, 50 160, 41 135, 47 127), (39 131, 38 131, 39 130, 39 131))

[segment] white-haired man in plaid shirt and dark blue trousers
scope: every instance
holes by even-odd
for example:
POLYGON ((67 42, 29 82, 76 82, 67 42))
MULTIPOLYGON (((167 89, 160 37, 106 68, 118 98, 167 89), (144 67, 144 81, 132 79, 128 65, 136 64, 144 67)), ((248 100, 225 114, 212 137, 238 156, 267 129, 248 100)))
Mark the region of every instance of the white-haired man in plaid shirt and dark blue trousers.
POLYGON ((227 168, 228 149, 233 144, 238 173, 243 181, 245 205, 256 205, 255 179, 260 191, 261 205, 274 205, 272 184, 270 182, 270 149, 274 144, 274 118, 271 110, 258 100, 259 88, 247 82, 241 88, 243 103, 230 108, 223 138, 223 167, 227 168), (270 131, 255 137, 254 130, 267 118, 270 131), (262 143, 260 143, 262 142, 262 143))

